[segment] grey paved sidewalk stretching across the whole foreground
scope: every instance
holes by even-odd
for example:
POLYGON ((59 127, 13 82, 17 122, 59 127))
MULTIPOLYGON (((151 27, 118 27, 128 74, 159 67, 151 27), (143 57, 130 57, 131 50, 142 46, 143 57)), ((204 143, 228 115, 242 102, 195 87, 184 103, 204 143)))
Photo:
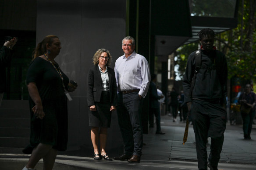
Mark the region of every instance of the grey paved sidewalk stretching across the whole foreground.
MULTIPOLYGON (((161 128, 165 135, 156 135, 156 128, 150 128, 143 135, 141 163, 127 161, 93 160, 92 157, 58 155, 53 170, 197 170, 195 137, 189 125, 188 141, 182 145, 185 123, 172 122, 169 116, 161 117, 161 128)), ((256 169, 256 126, 252 129, 252 140, 244 140, 242 125, 229 125, 225 132, 219 170, 256 169)), ((210 138, 209 138, 210 147, 210 138)), ((209 147, 207 149, 209 150, 209 147)), ((119 156, 119 155, 111 155, 119 156)), ((26 155, 0 154, 1 170, 21 170, 26 155)), ((42 161, 36 167, 42 170, 42 161)))

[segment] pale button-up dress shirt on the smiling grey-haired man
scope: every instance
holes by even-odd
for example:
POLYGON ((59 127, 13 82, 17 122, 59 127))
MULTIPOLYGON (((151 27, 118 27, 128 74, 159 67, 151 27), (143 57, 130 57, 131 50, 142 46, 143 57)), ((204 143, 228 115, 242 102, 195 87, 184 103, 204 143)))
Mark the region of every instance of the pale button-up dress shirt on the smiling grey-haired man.
POLYGON ((135 51, 128 56, 119 57, 115 63, 117 91, 139 89, 139 95, 145 97, 149 90, 150 71, 145 57, 135 51))

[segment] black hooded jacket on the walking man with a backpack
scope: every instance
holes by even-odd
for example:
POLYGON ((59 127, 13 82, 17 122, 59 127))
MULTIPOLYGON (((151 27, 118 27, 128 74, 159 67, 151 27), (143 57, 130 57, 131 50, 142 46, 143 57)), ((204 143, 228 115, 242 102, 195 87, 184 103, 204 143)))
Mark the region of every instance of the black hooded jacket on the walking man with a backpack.
POLYGON ((221 104, 226 104, 228 66, 225 55, 218 51, 201 50, 202 64, 199 73, 196 75, 195 86, 190 96, 192 78, 196 69, 195 52, 188 57, 186 66, 183 90, 185 93, 185 103, 192 101, 192 98, 201 100, 218 100, 221 104))

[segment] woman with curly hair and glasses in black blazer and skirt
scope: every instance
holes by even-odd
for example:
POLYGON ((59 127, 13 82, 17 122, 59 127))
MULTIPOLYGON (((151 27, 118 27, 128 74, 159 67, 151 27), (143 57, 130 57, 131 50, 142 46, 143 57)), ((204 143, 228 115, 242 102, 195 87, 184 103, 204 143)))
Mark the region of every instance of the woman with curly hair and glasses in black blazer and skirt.
POLYGON ((94 148, 94 159, 112 160, 105 148, 107 128, 110 127, 111 112, 117 106, 117 83, 114 69, 110 68, 112 56, 106 49, 99 49, 92 58, 94 67, 88 73, 87 103, 89 107, 89 126, 94 148), (100 132, 99 132, 100 128, 100 132), (100 140, 100 150, 98 141, 100 140))

